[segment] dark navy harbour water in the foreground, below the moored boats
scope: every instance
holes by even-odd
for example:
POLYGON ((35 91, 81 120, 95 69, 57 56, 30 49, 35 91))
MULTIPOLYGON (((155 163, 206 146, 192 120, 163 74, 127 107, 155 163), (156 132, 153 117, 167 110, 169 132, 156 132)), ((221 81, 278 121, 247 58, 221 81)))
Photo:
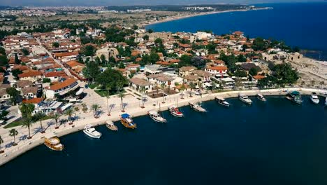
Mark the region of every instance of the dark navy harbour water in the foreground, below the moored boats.
POLYGON ((327 184, 324 100, 250 98, 203 102, 207 113, 181 107, 184 118, 163 111, 168 123, 140 116, 136 130, 101 125, 101 139, 66 135, 64 151, 41 145, 0 167, 1 184, 327 184))

